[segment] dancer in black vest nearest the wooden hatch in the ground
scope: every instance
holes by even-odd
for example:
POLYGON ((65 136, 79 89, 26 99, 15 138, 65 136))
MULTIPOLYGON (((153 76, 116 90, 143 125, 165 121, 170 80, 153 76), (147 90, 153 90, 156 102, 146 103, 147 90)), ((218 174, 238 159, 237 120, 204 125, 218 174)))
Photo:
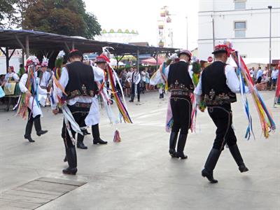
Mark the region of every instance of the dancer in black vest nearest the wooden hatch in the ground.
MULTIPOLYGON (((92 67, 83 64, 83 54, 78 50, 72 50, 69 53, 69 61, 71 63, 66 64, 62 68, 62 74, 59 78, 59 86, 61 91, 57 90, 57 96, 62 97, 64 92, 64 98, 66 107, 71 112, 73 120, 75 122, 67 123, 63 122, 62 138, 64 139, 64 146, 66 151, 66 159, 69 167, 62 170, 64 174, 75 175, 77 172, 77 155, 74 144, 74 138, 78 130, 74 130, 73 125, 78 124, 82 127, 87 114, 90 111, 92 104, 92 97, 95 94, 94 86, 94 71, 92 67), (63 90, 64 89, 64 90, 63 90), (66 125, 67 124, 67 125, 66 125)), ((54 97, 55 98, 55 97, 54 97)), ((62 109, 64 109, 62 107, 62 109)), ((52 112, 58 113, 57 100, 52 102, 52 112)))

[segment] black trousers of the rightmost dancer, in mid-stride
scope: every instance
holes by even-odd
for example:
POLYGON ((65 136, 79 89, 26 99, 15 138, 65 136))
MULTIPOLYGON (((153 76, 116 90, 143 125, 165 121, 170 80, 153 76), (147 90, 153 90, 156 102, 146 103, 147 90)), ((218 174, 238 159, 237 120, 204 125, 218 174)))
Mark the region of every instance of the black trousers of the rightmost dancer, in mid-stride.
POLYGON ((237 137, 235 137, 235 131, 232 129, 230 104, 209 106, 208 113, 217 127, 213 148, 223 151, 225 144, 228 144, 228 146, 237 144, 237 137))

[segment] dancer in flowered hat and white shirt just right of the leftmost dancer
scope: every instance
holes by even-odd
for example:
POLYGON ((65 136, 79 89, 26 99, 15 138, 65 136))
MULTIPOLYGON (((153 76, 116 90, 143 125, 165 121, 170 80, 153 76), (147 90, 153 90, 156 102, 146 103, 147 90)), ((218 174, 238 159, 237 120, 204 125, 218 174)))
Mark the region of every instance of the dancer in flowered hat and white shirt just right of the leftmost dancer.
MULTIPOLYGON (((52 72, 48 69, 48 59, 46 57, 43 57, 43 61, 41 62, 41 71, 40 87, 50 92, 50 87, 52 87, 52 72)), ((47 106, 50 105, 49 97, 48 95, 46 98, 42 98, 42 100, 44 100, 43 104, 47 106)), ((39 101, 41 102, 41 100, 39 101)))

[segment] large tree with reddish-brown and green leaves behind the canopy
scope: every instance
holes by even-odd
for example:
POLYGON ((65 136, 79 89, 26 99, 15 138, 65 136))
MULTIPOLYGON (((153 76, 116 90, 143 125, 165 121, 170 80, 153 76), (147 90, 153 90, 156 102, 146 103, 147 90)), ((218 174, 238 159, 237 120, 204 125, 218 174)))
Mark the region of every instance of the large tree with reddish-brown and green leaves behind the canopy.
POLYGON ((28 5, 22 28, 85 38, 101 31, 97 18, 85 11, 82 0, 36 0, 28 5))

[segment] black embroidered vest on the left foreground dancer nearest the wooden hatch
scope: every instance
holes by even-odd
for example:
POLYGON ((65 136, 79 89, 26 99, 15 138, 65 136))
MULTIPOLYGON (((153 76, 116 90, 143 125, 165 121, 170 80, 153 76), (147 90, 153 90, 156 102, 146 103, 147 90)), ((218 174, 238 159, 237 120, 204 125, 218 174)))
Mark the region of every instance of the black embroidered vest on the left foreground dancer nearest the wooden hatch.
POLYGON ((92 66, 83 62, 72 62, 66 64, 65 67, 69 75, 69 81, 65 87, 66 100, 79 96, 94 97, 96 87, 92 66))

